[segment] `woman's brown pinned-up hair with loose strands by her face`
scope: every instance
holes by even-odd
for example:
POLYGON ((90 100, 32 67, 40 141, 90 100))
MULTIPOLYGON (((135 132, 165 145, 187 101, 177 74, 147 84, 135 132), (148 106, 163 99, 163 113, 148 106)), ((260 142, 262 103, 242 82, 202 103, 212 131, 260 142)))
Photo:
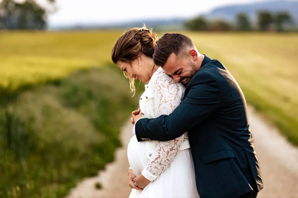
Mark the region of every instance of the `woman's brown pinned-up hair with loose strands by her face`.
MULTIPOLYGON (((147 29, 145 25, 143 28, 131 28, 116 41, 112 50, 112 60, 114 64, 117 64, 117 61, 131 64, 141 54, 153 58, 157 40, 157 34, 152 29, 147 29)), ((124 75, 128 78, 125 72, 124 75)), ((134 80, 130 79, 131 92, 136 90, 134 80)))

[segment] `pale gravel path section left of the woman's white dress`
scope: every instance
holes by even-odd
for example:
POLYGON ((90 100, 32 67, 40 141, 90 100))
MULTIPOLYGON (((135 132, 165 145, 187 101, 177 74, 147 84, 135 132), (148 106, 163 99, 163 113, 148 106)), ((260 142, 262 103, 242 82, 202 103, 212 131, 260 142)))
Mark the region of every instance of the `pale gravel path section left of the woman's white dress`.
POLYGON ((115 161, 108 164, 106 170, 100 171, 98 176, 86 178, 73 189, 66 198, 125 198, 131 188, 128 186, 127 146, 131 139, 133 125, 130 121, 121 129, 122 148, 115 154, 115 161), (102 189, 94 188, 95 183, 101 183, 102 189))

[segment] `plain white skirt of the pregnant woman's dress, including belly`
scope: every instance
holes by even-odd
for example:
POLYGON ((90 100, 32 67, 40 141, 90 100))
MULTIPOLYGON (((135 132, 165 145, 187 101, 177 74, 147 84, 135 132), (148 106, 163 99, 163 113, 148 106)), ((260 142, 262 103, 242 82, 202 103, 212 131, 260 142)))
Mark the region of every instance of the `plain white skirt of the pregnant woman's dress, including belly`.
MULTIPOLYGON (((145 143, 138 142, 134 135, 128 144, 128 162, 135 175, 148 164, 145 143)), ((144 190, 132 189, 129 198, 198 198, 194 172, 190 149, 184 149, 144 190)))

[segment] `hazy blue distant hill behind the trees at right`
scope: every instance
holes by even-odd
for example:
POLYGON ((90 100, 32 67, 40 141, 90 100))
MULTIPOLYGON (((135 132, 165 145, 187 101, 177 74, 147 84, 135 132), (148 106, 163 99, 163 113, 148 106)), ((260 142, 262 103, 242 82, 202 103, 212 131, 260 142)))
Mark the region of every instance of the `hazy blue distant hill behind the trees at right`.
POLYGON ((209 19, 226 19, 226 20, 235 20, 235 16, 239 12, 246 12, 250 15, 252 20, 256 19, 256 13, 258 10, 270 10, 271 12, 277 11, 288 11, 291 13, 294 21, 298 23, 298 1, 263 1, 257 3, 249 4, 238 4, 238 5, 229 5, 213 9, 207 15, 209 19))

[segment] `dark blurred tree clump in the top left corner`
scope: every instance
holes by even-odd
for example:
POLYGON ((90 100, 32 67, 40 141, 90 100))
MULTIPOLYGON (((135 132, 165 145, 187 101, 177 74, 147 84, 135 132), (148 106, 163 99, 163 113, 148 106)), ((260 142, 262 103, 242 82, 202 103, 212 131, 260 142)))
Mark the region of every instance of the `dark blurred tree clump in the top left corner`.
MULTIPOLYGON (((54 4, 55 0, 47 0, 54 4)), ((22 3, 2 0, 0 3, 0 28, 2 29, 44 29, 49 11, 34 0, 22 3)))

